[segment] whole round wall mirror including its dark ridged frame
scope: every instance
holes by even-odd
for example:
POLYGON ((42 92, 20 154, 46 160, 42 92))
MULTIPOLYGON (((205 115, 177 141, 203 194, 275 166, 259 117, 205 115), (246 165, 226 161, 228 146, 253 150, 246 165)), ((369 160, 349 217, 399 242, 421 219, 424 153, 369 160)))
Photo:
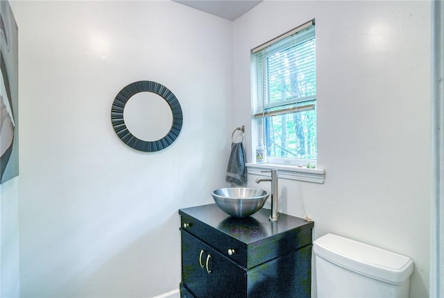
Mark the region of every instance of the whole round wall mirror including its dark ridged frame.
POLYGON ((176 96, 160 83, 138 81, 117 94, 111 123, 119 138, 139 151, 160 151, 182 129, 182 109, 176 96))

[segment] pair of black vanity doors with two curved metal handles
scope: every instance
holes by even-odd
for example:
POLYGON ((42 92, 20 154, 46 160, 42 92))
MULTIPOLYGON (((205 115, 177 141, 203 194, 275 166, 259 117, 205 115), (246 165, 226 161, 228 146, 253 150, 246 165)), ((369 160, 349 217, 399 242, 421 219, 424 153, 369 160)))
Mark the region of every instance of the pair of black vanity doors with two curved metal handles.
POLYGON ((247 297, 246 270, 185 231, 182 283, 196 298, 247 297))

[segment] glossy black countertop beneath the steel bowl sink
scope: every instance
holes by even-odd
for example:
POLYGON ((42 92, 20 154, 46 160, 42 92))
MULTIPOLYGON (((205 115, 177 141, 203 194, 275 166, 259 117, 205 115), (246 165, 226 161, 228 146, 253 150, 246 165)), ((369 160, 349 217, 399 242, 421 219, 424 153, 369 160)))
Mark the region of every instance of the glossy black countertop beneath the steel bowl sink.
POLYGON ((300 232, 312 229, 314 222, 306 222, 300 217, 280 213, 277 222, 268 220, 270 210, 262 208, 257 213, 245 218, 231 217, 216 204, 182 208, 180 215, 189 215, 214 229, 230 235, 246 245, 253 242, 279 238, 288 231, 300 232))

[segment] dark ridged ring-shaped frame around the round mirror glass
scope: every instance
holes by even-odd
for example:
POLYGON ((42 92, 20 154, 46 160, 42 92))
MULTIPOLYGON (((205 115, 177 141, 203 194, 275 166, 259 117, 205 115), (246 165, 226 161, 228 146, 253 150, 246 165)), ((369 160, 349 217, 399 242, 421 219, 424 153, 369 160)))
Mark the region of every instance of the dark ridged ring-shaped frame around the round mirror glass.
POLYGON ((114 131, 116 131, 117 136, 129 147, 137 149, 139 151, 145 152, 155 152, 160 151, 169 147, 178 138, 180 130, 182 129, 183 115, 182 108, 176 96, 167 87, 160 83, 153 81, 137 81, 130 83, 125 88, 120 90, 116 98, 112 103, 111 108, 111 123, 114 131), (135 137, 125 124, 125 119, 123 118, 123 110, 128 100, 133 97, 133 95, 139 92, 153 92, 160 95, 171 108, 171 113, 173 113, 173 123, 171 124, 171 129, 167 135, 162 139, 156 141, 144 141, 139 140, 135 137))

